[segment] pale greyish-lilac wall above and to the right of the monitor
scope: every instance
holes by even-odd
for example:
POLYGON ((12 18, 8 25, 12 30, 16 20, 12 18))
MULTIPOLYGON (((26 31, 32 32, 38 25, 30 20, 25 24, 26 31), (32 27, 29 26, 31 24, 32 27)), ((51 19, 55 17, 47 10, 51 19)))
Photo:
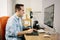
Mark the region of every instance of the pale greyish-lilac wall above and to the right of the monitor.
POLYGON ((56 29, 56 32, 59 32, 59 30, 60 30, 60 19, 59 19, 60 0, 43 0, 43 12, 44 12, 44 8, 49 7, 52 4, 55 4, 55 7, 54 7, 54 28, 56 29))

